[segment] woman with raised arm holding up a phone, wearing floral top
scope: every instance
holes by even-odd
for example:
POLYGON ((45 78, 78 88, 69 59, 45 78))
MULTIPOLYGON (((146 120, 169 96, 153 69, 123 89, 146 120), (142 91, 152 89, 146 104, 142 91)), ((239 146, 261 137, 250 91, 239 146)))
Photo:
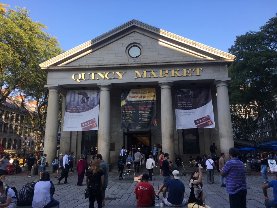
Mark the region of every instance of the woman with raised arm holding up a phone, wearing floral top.
POLYGON ((199 171, 194 171, 190 175, 190 196, 188 198, 188 208, 210 208, 209 206, 205 205, 205 196, 203 191, 203 183, 202 183, 202 169, 203 167, 198 167, 199 171), (203 205, 198 205, 199 200, 202 199, 203 205))

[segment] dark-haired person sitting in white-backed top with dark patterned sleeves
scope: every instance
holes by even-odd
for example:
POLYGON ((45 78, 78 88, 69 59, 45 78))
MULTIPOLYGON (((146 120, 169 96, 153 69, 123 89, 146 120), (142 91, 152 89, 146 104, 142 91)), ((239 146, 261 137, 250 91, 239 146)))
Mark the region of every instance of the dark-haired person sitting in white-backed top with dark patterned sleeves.
POLYGON ((49 208, 57 205, 59 206, 59 201, 53 198, 54 193, 55 186, 53 182, 50 181, 49 173, 42 173, 40 181, 35 184, 32 207, 49 208))

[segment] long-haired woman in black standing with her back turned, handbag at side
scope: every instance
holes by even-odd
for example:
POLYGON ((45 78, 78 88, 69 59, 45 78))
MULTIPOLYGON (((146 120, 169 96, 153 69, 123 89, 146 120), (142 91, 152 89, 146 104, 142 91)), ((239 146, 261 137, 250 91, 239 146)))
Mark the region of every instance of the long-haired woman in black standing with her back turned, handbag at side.
POLYGON ((87 188, 90 189, 89 208, 94 207, 96 198, 98 208, 102 208, 102 186, 104 184, 104 171, 100 168, 99 161, 94 159, 91 168, 86 173, 87 188))

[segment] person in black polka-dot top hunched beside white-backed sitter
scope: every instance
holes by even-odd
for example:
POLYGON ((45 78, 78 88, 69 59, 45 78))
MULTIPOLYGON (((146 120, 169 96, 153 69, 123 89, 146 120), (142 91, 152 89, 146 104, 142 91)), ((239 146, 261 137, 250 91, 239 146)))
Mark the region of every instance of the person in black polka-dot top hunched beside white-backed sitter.
POLYGON ((20 189, 20 191, 17 193, 18 206, 32 206, 34 198, 34 187, 38 181, 40 181, 40 179, 28 182, 20 189))

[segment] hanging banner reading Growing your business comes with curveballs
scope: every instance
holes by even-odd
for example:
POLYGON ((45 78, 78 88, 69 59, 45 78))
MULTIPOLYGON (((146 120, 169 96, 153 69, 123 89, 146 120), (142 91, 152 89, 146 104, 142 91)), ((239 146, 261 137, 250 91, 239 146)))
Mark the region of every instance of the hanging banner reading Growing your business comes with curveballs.
POLYGON ((175 116, 177 129, 214 128, 211 89, 175 88, 175 116))

